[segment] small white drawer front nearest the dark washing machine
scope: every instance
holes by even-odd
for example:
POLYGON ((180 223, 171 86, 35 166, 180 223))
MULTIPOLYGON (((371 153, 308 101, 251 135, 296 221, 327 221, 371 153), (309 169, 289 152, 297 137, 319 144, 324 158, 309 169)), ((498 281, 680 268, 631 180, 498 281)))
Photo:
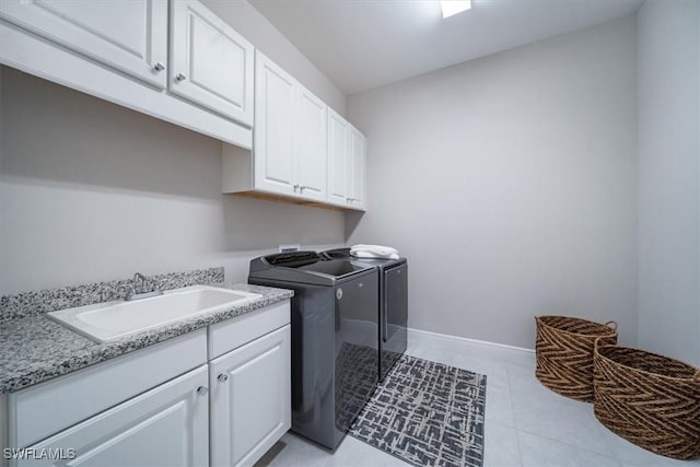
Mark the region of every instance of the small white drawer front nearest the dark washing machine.
POLYGON ((209 326, 209 360, 279 329, 290 322, 289 300, 209 326))

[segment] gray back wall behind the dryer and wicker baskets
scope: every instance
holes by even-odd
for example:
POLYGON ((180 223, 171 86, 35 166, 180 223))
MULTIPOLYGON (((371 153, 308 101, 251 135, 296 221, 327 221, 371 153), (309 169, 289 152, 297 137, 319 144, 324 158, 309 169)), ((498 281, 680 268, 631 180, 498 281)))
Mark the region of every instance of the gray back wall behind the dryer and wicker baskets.
POLYGON ((350 96, 409 326, 534 347, 534 316, 637 341, 635 27, 625 19, 350 96))

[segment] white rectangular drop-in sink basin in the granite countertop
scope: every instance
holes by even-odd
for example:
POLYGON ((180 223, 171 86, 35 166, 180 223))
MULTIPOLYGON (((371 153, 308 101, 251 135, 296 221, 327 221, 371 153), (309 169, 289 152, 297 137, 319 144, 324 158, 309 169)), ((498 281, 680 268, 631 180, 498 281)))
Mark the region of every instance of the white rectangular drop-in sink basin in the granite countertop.
POLYGON ((257 293, 192 285, 131 302, 116 301, 60 310, 48 316, 93 339, 106 342, 182 318, 225 310, 259 299, 257 293))

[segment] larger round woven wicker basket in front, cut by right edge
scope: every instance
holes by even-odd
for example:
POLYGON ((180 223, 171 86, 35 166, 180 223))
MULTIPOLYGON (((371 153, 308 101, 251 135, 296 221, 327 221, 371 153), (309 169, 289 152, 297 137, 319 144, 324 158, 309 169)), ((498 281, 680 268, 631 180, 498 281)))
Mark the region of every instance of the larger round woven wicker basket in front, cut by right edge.
POLYGON ((700 370, 643 350, 598 345, 596 418, 640 447, 677 459, 700 456, 700 370))

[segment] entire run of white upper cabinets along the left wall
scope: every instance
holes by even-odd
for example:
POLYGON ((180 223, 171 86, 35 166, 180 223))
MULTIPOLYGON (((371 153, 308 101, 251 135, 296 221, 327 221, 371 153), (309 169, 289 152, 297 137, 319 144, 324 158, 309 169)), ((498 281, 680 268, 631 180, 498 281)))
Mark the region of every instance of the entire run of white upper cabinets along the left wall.
POLYGON ((197 0, 0 0, 0 65, 229 143, 224 192, 364 209, 364 137, 197 0))

